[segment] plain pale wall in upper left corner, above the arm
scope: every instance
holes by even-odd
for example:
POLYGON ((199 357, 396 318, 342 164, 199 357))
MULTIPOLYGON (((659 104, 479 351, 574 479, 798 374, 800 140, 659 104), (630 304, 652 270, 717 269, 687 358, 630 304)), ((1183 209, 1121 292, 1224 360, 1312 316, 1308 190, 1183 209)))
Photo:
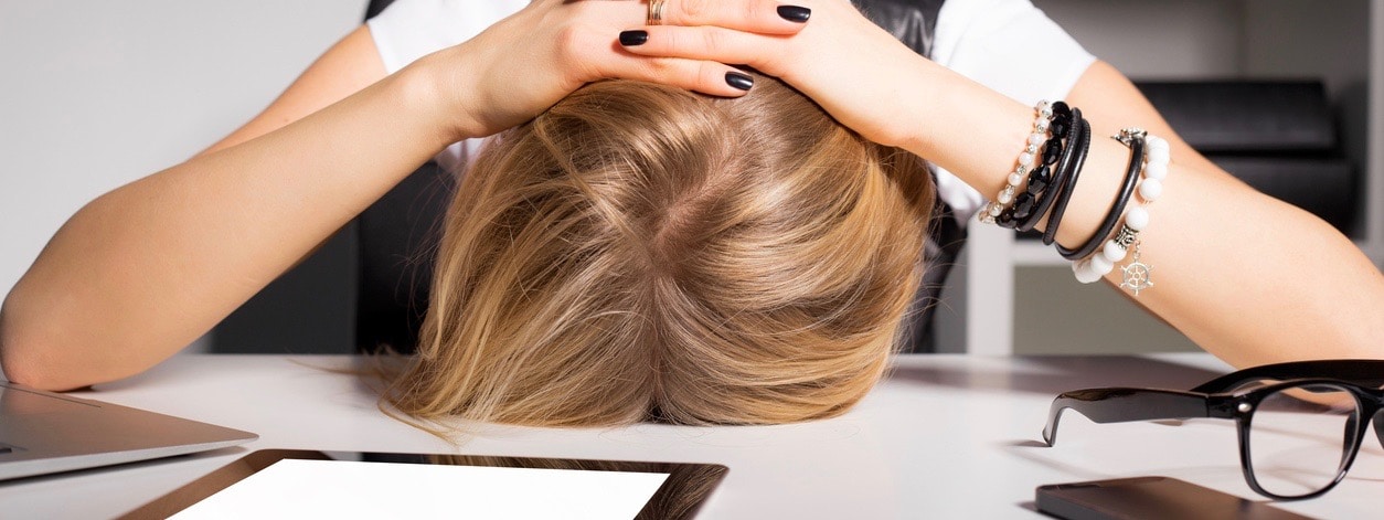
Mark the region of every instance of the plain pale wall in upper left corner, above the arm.
POLYGON ((257 113, 364 0, 0 0, 0 295, 82 205, 257 113))

